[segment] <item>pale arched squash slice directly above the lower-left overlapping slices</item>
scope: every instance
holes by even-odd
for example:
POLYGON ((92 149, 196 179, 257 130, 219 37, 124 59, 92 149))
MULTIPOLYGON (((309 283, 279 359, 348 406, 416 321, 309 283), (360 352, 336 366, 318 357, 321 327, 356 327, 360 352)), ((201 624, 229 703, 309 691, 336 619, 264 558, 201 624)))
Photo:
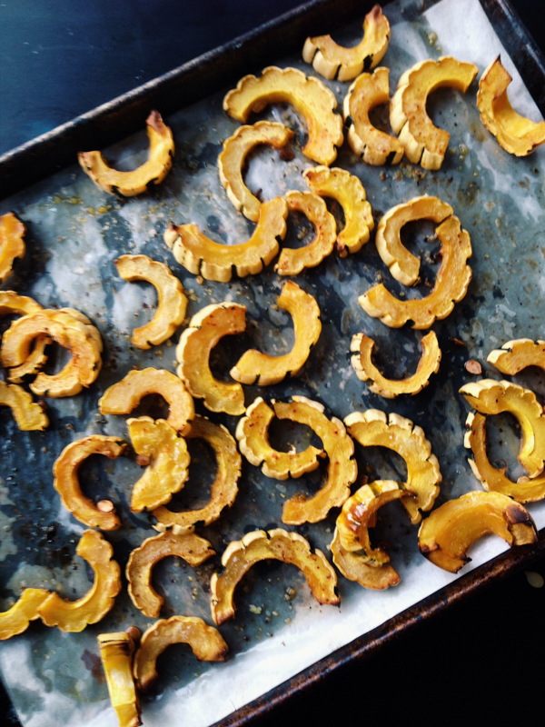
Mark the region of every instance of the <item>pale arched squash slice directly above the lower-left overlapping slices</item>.
POLYGON ((129 414, 150 393, 161 394, 170 406, 166 423, 181 434, 188 434, 195 415, 193 398, 183 381, 165 369, 130 371, 106 389, 98 400, 98 410, 101 414, 129 414))

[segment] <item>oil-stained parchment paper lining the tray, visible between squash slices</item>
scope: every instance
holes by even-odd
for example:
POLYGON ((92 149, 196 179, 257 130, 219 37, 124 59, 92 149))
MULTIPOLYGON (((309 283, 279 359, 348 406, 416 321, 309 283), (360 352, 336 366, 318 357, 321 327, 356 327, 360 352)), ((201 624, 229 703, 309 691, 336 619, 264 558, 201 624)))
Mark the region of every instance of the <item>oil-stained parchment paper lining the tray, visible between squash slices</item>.
MULTIPOLYGON (((417 21, 404 22, 403 17, 413 7, 414 3, 403 2, 385 8, 393 28, 382 65, 391 69, 391 90, 402 71, 422 58, 456 55, 476 63, 482 71, 501 52, 514 79, 510 86, 513 104, 521 113, 536 120, 540 117, 476 0, 443 0, 417 21)), ((335 38, 352 45, 358 36, 361 21, 347 26, 335 38)), ((299 53, 279 59, 278 65, 295 65, 313 75, 299 53)), ((349 84, 328 85, 342 102, 349 84)), ((25 586, 60 589, 72 598, 87 590, 86 570, 81 561, 74 570, 72 559, 74 544, 84 527, 61 507, 52 487, 52 464, 65 444, 85 434, 126 436, 124 417, 102 417, 96 402, 104 389, 134 364, 174 368, 172 345, 146 353, 132 350, 128 343, 131 329, 151 316, 144 304, 153 307, 154 294, 147 286, 125 284, 118 277, 113 261, 119 254, 143 252, 170 264, 190 293, 189 315, 209 303, 243 302, 248 306, 248 320, 253 323, 253 345, 281 354, 292 344, 289 317, 271 307, 282 286, 271 270, 231 284, 205 282, 201 286, 175 264, 163 244, 163 229, 169 219, 177 224, 197 223, 218 241, 240 242, 250 234, 252 225, 233 210, 215 169, 221 141, 238 125, 223 115, 222 98, 223 94, 214 95, 168 118, 177 144, 176 159, 173 172, 151 196, 119 202, 97 190, 74 167, 2 204, 3 212, 14 209, 29 228, 29 254, 19 280, 15 280, 15 290, 25 289, 44 305, 72 305, 83 310, 99 327, 105 344, 104 372, 97 386, 73 399, 49 400, 50 430, 18 433, 9 416, 1 420, 6 436, 5 475, 0 491, 0 558, 6 595, 10 591, 19 593, 25 586)), ((399 290, 370 243, 360 254, 344 260, 332 257, 297 277, 298 284, 316 295, 322 309, 321 340, 299 379, 263 391, 247 387, 247 403, 257 393, 277 399, 302 393, 322 401, 329 413, 341 418, 371 407, 408 416, 423 427, 440 459, 441 500, 446 500, 478 486, 465 462, 462 445, 468 407, 456 392, 461 383, 471 379, 463 370, 463 362, 468 358, 483 362, 492 348, 510 338, 543 337, 542 312, 536 308, 536 300, 545 290, 543 153, 538 150, 528 159, 514 159, 504 153, 481 127, 473 88, 466 96, 441 91, 432 101, 431 115, 439 124, 441 116, 446 117, 445 125, 451 132, 454 153, 448 154, 440 172, 424 173, 411 164, 388 169, 367 167, 348 147, 339 155, 338 164, 360 175, 375 213, 383 213, 415 194, 437 194, 452 204, 462 226, 471 234, 474 280, 470 291, 449 318, 434 326, 443 350, 441 372, 423 393, 396 402, 369 393, 353 373, 347 353, 352 334, 357 332, 364 331, 376 339, 381 364, 391 375, 413 370, 420 355, 421 334, 387 329, 364 314, 357 303, 357 296, 381 276, 392 291, 399 290), (422 174, 416 176, 414 169, 422 174), (453 337, 464 341, 466 348, 452 344, 453 337)), ((272 150, 261 149, 253 156, 246 177, 250 186, 261 188, 263 198, 291 188, 304 189, 301 171, 312 166, 300 151, 304 128, 289 108, 268 110, 262 116, 287 119, 295 125, 296 159, 285 164, 272 150)), ((120 166, 131 168, 144 160, 146 145, 145 134, 137 134, 106 155, 117 159, 120 166)), ((294 242, 297 229, 292 229, 290 235, 286 244, 294 242)), ((418 247, 419 242, 415 244, 418 247)), ((173 344, 176 342, 177 335, 173 337, 173 344)), ((226 347, 230 361, 236 361, 233 349, 242 343, 226 347)), ((520 381, 545 392, 539 379, 520 377, 520 381)), ((231 431, 236 424, 232 417, 211 418, 226 423, 231 431)), ((518 440, 507 418, 503 429, 502 434, 499 430, 496 433, 498 438, 507 438, 504 447, 510 447, 510 456, 502 456, 515 473, 518 440)), ((297 434, 298 443, 305 446, 308 434, 297 434)), ((403 476, 399 461, 382 455, 380 450, 368 450, 364 455, 359 450, 358 458, 363 472, 371 468, 372 478, 403 476)), ((91 488, 119 503, 124 526, 108 533, 107 538, 114 544, 122 567, 130 550, 154 534, 147 516, 134 516, 128 511, 127 495, 139 472, 129 459, 105 465, 92 463, 86 473, 91 488)), ((185 488, 185 506, 196 505, 198 498, 205 500, 206 488, 197 492, 199 478, 200 472, 193 464, 191 484, 185 488)), ((315 477, 308 480, 311 488, 317 485, 315 477)), ((222 553, 225 543, 254 527, 281 524, 285 497, 304 486, 301 480, 267 480, 246 463, 233 509, 224 520, 204 529, 203 534, 222 553)), ((530 511, 542 527, 543 506, 530 506, 530 511)), ((331 516, 323 523, 295 530, 325 550, 333 526, 331 516)), ((421 558, 416 547, 417 529, 410 526, 401 508, 391 505, 385 509, 378 530, 392 543, 392 562, 402 577, 399 587, 387 593, 372 593, 341 580, 341 608, 322 608, 313 602, 302 576, 294 569, 277 564, 254 569, 245 582, 247 588, 237 592, 237 618, 222 627, 231 647, 230 662, 203 664, 182 649, 167 652, 160 662, 164 675, 161 691, 144 702, 144 723, 154 725, 167 720, 175 724, 191 719, 195 725, 211 724, 455 578, 421 558), (288 586, 297 592, 292 601, 284 598, 288 586)), ((479 543, 471 565, 486 562, 503 550, 503 545, 492 539, 479 543)), ((206 584, 219 557, 194 571, 171 560, 156 569, 155 580, 167 598, 164 615, 199 615, 211 622, 206 584)), ((151 620, 135 612, 124 593, 103 622, 81 634, 63 634, 35 623, 25 635, 2 643, 0 669, 22 722, 40 727, 60 721, 67 725, 116 724, 104 682, 97 676, 96 634, 130 623, 145 628, 151 620), (16 671, 12 668, 15 662, 16 671)))

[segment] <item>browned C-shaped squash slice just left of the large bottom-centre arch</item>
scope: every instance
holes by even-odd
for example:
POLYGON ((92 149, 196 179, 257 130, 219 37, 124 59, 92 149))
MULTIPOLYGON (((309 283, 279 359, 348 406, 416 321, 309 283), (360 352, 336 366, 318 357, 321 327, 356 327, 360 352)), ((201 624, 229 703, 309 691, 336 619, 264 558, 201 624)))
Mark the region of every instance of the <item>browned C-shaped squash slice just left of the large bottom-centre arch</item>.
POLYGON ((190 565, 200 565, 214 553, 207 540, 193 533, 161 533, 147 538, 131 553, 125 570, 131 601, 145 616, 156 619, 164 599, 152 585, 155 563, 170 555, 177 555, 190 565))

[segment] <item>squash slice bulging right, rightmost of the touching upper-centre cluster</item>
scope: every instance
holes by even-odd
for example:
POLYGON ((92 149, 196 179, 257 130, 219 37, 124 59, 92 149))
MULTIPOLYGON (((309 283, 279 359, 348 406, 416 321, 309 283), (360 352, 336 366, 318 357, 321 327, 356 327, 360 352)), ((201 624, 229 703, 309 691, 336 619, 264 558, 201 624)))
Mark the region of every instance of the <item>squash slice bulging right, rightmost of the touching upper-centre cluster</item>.
POLYGON ((314 166, 303 172, 314 194, 332 197, 342 206, 344 228, 337 235, 337 251, 341 257, 357 253, 369 242, 374 227, 371 204, 359 178, 344 169, 314 166))

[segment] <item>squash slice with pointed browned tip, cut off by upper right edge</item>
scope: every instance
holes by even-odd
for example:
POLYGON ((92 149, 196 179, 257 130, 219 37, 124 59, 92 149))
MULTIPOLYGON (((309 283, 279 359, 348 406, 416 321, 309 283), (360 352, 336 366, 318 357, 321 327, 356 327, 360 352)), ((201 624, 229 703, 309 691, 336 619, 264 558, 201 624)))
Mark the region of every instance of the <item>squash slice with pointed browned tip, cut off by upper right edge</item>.
POLYGON ((528 156, 545 143, 545 122, 535 123, 517 114, 507 95, 512 80, 499 55, 481 75, 477 108, 481 122, 506 152, 528 156))

